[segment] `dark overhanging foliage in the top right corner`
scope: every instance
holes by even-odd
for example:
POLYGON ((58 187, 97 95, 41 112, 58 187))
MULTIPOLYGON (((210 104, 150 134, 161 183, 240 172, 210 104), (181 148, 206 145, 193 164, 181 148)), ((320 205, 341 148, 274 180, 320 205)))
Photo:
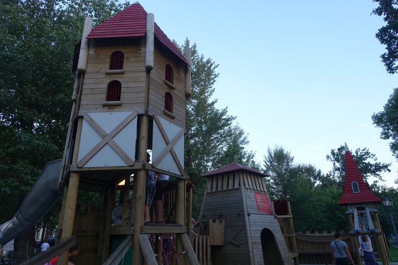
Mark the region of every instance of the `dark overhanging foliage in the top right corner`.
POLYGON ((398 4, 397 0, 373 0, 378 2, 379 6, 373 9, 372 14, 378 16, 384 16, 384 21, 387 22, 386 26, 383 26, 376 33, 376 38, 381 44, 386 45, 384 54, 380 56, 384 63, 387 72, 390 74, 397 73, 398 65, 398 4))

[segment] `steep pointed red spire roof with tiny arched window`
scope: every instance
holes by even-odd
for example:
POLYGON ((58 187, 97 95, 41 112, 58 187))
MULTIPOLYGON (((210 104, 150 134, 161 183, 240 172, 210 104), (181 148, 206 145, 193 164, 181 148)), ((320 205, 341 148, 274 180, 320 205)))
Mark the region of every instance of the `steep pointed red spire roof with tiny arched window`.
MULTIPOLYGON (((355 190, 358 191, 358 190, 355 190)), ((341 196, 340 205, 351 204, 351 203, 363 203, 363 202, 376 202, 382 201, 375 194, 370 191, 369 184, 366 183, 359 172, 357 165, 355 164, 354 158, 345 143, 345 185, 343 188, 343 196, 341 196), (358 183, 359 192, 354 192, 353 182, 358 183)))

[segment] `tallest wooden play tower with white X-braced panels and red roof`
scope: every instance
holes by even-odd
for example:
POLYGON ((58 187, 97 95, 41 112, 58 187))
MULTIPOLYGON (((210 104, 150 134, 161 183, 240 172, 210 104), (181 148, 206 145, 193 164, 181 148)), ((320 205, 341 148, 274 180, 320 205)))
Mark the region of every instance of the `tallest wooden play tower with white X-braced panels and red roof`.
MULTIPOLYGON (((146 242, 150 233, 177 233, 177 252, 187 251, 190 263, 198 264, 190 255, 185 220, 184 133, 191 50, 187 48, 184 56, 138 2, 94 28, 92 24, 86 17, 82 40, 75 47, 76 81, 59 180, 59 188, 65 189, 60 240, 72 235, 78 190, 104 192, 98 257, 86 264, 108 260, 111 235, 126 236, 118 250, 132 246, 132 264, 141 264, 142 257, 146 264, 159 263, 146 242), (147 170, 177 177, 174 226, 144 225, 147 170), (123 218, 121 226, 111 228, 115 187, 122 180, 122 201, 133 187, 130 224, 123 218)), ((127 217, 128 204, 123 205, 127 217)), ((61 264, 66 261, 64 253, 61 264)))

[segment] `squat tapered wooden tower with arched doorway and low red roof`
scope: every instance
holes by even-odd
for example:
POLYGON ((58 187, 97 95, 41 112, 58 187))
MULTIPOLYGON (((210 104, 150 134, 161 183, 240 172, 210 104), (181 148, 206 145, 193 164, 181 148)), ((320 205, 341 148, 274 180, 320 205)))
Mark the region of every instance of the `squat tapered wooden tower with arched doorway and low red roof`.
POLYGON ((202 176, 207 187, 200 223, 210 236, 213 265, 292 264, 263 180, 267 176, 237 163, 202 176))

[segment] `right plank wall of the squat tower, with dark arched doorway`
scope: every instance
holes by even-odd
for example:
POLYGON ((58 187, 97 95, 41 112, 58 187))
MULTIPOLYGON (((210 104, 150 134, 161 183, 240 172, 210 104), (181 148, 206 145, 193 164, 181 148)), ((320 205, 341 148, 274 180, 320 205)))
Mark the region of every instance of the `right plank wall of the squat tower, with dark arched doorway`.
POLYGON ((250 235, 253 247, 254 263, 256 265, 264 264, 263 249, 261 244, 261 232, 268 228, 275 237, 278 244, 278 250, 285 264, 291 264, 291 258, 288 247, 286 245, 278 219, 275 218, 273 210, 269 213, 259 211, 256 203, 255 193, 265 195, 268 205, 272 205, 269 198, 263 177, 251 172, 243 172, 243 182, 245 184, 245 196, 247 211, 250 213, 249 225, 250 235))

